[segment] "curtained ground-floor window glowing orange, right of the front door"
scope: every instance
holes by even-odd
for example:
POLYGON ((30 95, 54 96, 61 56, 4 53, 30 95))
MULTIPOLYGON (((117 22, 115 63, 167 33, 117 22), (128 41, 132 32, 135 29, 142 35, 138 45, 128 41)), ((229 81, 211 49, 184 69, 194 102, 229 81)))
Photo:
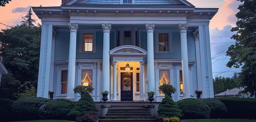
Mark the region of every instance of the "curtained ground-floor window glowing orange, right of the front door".
MULTIPOLYGON (((170 70, 159 70, 159 85, 170 84, 170 70)), ((160 95, 163 95, 160 92, 160 95)))

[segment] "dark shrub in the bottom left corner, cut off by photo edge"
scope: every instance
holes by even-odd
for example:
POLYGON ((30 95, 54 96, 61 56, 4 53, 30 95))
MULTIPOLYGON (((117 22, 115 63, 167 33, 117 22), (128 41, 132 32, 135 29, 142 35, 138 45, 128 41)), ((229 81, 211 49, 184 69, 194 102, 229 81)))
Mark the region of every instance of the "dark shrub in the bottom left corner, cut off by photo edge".
POLYGON ((6 98, 0 98, 0 121, 12 120, 11 106, 13 101, 6 98))

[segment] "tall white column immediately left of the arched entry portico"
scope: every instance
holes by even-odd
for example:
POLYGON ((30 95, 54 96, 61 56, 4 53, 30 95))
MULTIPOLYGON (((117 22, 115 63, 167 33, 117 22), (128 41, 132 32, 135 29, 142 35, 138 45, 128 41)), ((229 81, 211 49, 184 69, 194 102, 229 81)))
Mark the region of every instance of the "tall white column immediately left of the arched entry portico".
MULTIPOLYGON (((110 92, 110 30, 111 24, 102 24, 103 58, 102 58, 102 90, 110 92)), ((110 95, 108 95, 110 99, 110 95)))

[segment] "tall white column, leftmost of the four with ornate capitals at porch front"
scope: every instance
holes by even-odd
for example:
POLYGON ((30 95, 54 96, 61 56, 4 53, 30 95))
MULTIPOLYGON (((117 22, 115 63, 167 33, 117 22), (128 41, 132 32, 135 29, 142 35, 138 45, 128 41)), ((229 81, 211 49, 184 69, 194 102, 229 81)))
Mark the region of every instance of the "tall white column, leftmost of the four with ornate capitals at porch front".
POLYGON ((69 67, 68 67, 68 87, 67 98, 74 100, 75 88, 75 67, 76 67, 76 33, 78 29, 77 23, 70 23, 70 43, 69 43, 69 67))

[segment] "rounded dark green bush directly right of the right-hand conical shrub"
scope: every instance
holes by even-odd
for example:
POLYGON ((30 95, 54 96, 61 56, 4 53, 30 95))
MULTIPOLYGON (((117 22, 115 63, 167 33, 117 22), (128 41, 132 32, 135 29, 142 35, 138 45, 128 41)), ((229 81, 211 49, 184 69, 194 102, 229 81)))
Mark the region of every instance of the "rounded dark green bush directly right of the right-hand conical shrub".
POLYGON ((177 102, 179 109, 182 110, 183 118, 209 118, 210 108, 204 102, 187 98, 177 102))

